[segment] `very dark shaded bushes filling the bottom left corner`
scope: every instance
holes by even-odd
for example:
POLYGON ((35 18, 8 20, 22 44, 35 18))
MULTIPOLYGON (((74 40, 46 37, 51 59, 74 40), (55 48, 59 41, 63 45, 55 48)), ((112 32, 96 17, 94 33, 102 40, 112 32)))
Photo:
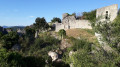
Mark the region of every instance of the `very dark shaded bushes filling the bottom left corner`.
POLYGON ((7 52, 0 49, 1 67, 44 67, 45 60, 42 57, 24 57, 17 52, 7 52))

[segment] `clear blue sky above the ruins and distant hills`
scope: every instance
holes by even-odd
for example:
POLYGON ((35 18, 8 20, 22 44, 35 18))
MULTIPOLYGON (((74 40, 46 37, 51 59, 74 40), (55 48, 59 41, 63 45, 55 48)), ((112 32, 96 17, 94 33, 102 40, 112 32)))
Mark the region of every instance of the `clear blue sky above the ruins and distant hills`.
POLYGON ((50 22, 63 13, 82 13, 118 4, 120 0, 0 0, 0 26, 27 26, 37 17, 50 22))

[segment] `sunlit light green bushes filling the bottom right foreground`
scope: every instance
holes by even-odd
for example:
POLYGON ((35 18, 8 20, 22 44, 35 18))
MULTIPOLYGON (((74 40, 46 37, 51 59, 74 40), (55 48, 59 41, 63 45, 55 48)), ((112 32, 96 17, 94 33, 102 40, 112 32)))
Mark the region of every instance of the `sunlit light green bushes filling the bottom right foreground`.
POLYGON ((90 42, 84 39, 70 38, 72 47, 67 48, 64 53, 63 60, 72 64, 74 67, 116 67, 119 66, 120 56, 117 53, 109 53, 99 48, 99 51, 94 51, 90 42), (73 51, 70 55, 70 51, 73 51))

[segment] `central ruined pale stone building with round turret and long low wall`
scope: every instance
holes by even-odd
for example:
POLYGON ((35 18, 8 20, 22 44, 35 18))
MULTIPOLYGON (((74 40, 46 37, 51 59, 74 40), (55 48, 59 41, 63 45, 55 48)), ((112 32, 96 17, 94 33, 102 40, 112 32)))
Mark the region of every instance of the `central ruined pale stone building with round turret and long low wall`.
POLYGON ((92 29, 90 22, 88 20, 77 20, 74 15, 69 16, 67 13, 63 14, 62 23, 56 23, 55 31, 58 32, 60 29, 92 29))

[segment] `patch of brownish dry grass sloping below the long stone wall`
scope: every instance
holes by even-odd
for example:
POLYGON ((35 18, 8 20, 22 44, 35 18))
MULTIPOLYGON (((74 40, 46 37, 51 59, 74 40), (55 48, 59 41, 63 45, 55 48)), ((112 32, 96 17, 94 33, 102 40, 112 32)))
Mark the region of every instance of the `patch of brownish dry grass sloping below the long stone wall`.
POLYGON ((97 38, 93 34, 93 30, 89 29, 69 29, 66 30, 66 34, 69 37, 74 37, 74 38, 84 38, 89 40, 90 42, 97 43, 97 38))

